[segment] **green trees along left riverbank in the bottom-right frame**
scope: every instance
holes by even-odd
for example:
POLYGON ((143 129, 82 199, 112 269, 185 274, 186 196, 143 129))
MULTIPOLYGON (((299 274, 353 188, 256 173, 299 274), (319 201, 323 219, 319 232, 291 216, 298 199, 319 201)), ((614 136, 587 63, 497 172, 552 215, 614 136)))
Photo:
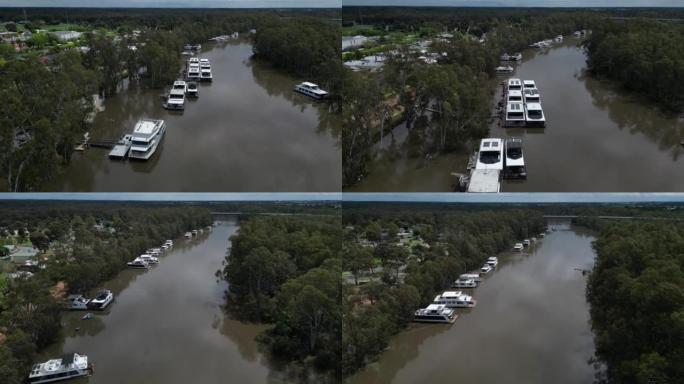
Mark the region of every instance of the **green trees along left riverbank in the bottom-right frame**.
POLYGON ((344 287, 345 376, 374 360, 387 347, 390 337, 409 324, 413 312, 430 303, 459 274, 479 267, 487 257, 510 249, 516 240, 536 235, 545 228, 540 212, 510 208, 455 214, 438 210, 414 213, 386 206, 365 215, 345 215, 344 224, 349 227, 343 246, 343 269, 354 274, 368 271, 374 259, 383 266, 379 278, 364 285, 344 287), (412 229, 429 248, 414 246, 407 250, 395 245, 399 228, 412 229), (378 245, 360 246, 362 238, 378 245), (402 266, 405 276, 400 279, 402 266))

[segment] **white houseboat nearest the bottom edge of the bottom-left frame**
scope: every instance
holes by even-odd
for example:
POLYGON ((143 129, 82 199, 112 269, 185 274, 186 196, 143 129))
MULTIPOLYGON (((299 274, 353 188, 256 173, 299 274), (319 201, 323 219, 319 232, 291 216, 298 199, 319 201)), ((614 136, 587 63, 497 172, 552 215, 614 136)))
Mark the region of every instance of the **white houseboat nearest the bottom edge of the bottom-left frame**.
POLYGON ((88 356, 69 353, 59 359, 35 364, 31 368, 28 382, 31 384, 54 383, 76 377, 90 376, 92 373, 93 367, 88 364, 88 356))

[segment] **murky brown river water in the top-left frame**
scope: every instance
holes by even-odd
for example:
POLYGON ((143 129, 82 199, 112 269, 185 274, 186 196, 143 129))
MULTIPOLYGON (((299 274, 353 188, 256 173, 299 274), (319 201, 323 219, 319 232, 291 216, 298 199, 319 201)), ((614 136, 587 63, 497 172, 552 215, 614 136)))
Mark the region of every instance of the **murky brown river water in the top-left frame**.
MULTIPOLYGON (((114 161, 108 149, 75 153, 46 191, 333 192, 341 188, 339 123, 326 103, 293 92, 297 79, 250 59, 244 41, 205 44, 214 81, 183 113, 162 91, 132 84, 105 101, 91 137, 118 139, 144 117, 167 131, 148 161, 114 161)), ((170 84, 169 84, 170 85, 170 84)))

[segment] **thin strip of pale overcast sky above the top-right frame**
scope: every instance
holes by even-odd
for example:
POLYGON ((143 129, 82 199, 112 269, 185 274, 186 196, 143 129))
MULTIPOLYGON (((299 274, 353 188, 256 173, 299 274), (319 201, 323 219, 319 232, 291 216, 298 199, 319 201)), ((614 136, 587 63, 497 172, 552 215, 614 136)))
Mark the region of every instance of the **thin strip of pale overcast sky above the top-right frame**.
POLYGON ((342 0, 342 5, 453 7, 684 7, 684 0, 342 0))

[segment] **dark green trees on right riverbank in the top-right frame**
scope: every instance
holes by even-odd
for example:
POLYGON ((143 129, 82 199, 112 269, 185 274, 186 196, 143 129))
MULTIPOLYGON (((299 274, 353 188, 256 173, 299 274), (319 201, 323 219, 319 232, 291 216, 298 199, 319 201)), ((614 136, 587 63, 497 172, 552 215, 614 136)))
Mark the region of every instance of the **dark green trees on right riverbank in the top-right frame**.
POLYGON ((675 111, 684 108, 684 26, 641 20, 605 21, 585 44, 589 70, 675 111))

